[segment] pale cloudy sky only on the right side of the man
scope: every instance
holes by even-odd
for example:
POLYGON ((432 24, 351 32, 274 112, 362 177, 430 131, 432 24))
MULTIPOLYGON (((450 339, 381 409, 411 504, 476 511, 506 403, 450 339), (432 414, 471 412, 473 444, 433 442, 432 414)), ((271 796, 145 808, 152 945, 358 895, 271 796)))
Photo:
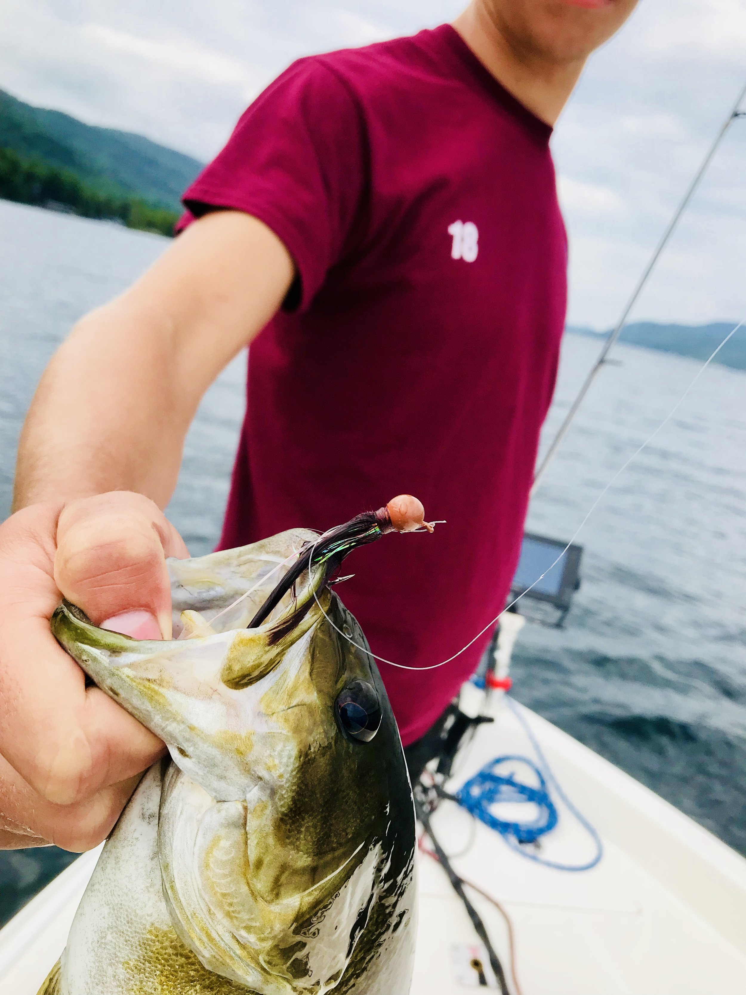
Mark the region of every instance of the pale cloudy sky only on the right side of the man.
MULTIPOLYGON (((615 323, 746 82, 744 32, 741 0, 646 0, 591 60, 553 139, 574 323, 615 323)), ((733 122, 634 317, 746 314, 745 125, 733 122)))

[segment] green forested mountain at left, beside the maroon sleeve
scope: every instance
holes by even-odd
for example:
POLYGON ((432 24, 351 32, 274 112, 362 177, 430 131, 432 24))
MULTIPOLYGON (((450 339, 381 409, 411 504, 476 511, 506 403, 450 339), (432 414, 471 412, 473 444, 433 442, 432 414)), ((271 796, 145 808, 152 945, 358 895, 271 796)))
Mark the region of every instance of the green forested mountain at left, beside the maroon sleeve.
POLYGON ((0 197, 170 231, 202 163, 0 91, 0 197))

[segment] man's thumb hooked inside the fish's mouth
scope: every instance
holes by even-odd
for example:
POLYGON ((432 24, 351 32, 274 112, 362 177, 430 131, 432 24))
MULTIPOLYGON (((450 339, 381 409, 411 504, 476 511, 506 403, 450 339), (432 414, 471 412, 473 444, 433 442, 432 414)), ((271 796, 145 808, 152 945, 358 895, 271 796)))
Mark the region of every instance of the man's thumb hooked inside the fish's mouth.
POLYGON ((147 497, 123 491, 84 497, 60 515, 55 581, 94 625, 135 639, 170 639, 166 556, 188 555, 147 497))

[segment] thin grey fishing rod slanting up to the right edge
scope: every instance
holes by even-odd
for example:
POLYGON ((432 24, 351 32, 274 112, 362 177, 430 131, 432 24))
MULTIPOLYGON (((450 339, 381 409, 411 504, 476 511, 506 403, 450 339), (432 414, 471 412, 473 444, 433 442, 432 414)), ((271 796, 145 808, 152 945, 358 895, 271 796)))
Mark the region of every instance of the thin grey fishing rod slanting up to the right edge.
POLYGON ((619 338, 619 336, 622 334, 622 331, 623 331, 625 325, 627 324, 627 318, 630 316, 630 311, 633 309, 633 307, 635 306, 635 304, 638 302, 638 298, 640 298, 640 295, 645 290, 645 287, 648 284, 648 281, 650 280, 651 275, 653 274, 653 270, 655 268, 655 264, 657 263, 658 259, 660 258, 661 254, 663 252, 663 249, 665 249, 666 245, 668 244, 668 242, 670 240, 670 237, 673 234, 673 232, 674 232, 674 230, 675 230, 675 228, 676 228, 676 226, 677 226, 677 224, 678 224, 678 222, 679 222, 679 220, 681 218, 681 215, 684 213, 684 211, 688 207, 689 201, 691 200, 691 198, 694 195, 695 190, 699 186, 699 183, 700 183, 702 177, 707 172, 707 167, 709 166, 710 162, 712 161, 713 156, 715 155, 715 152, 717 151, 718 147, 720 146, 720 142, 723 140, 723 138, 725 137, 726 132, 728 131, 728 128, 730 127, 730 125, 733 123, 733 121, 737 117, 746 117, 746 110, 740 110, 739 109, 740 106, 741 106, 741 103, 743 102, 743 100, 744 100, 745 97, 746 97, 746 83, 743 85, 740 93, 738 94, 738 98, 735 101, 735 103, 733 104, 731 110, 729 111, 728 116, 725 118, 725 120, 723 121, 722 125, 720 126, 720 130, 715 135, 715 139, 712 142, 712 144, 710 145, 707 154, 705 155, 704 159, 702 160, 701 165, 699 166, 699 169, 697 169, 696 173, 694 174, 694 178, 691 181, 691 183, 689 184, 688 189, 686 190, 686 193, 683 195, 683 198, 679 202, 678 207, 673 212, 673 216, 670 219, 670 221, 668 222, 668 225, 667 225, 665 231, 663 232, 663 234, 662 234, 662 236, 660 238, 660 241, 658 242, 657 246, 655 247, 655 250, 653 252, 653 256, 651 256, 651 259, 649 260, 648 265, 646 266, 645 270, 643 271, 643 275, 640 278, 640 280, 638 281, 638 285, 635 288, 635 290, 633 291, 632 297, 625 304, 625 307, 624 307, 624 309, 622 311, 622 314, 621 314, 621 316, 619 318, 619 321, 617 321, 617 324, 615 325, 614 330, 612 331, 611 335, 609 335, 609 337, 607 338, 606 342, 604 343, 604 347, 601 350, 601 354, 599 355, 599 358, 596 360, 594 366, 591 369, 591 372, 586 377, 585 382, 583 383, 583 386, 580 388, 580 390, 579 390, 579 392, 578 392, 575 400, 573 401, 572 405, 570 406, 570 410, 565 415, 565 420, 562 422, 562 424, 560 425, 559 429, 557 430, 557 434, 555 435, 554 439, 552 440, 552 442, 551 442, 551 444, 549 446, 549 449, 547 450, 546 455, 544 456, 544 459, 539 464, 539 467, 538 467, 538 469, 537 469, 537 471, 536 471, 536 473, 534 475, 534 479, 533 479, 533 486, 531 488, 531 494, 532 495, 536 491, 536 488, 538 487, 539 482, 541 481, 542 477, 546 473, 547 467, 549 466, 549 464, 551 463, 551 461, 554 459, 554 456, 555 456, 557 450, 559 449, 560 443, 565 438, 565 435, 567 434, 567 430, 570 428, 570 425, 574 421, 575 416, 578 413, 578 409, 580 408, 581 404, 583 403, 583 399, 585 398, 586 394, 588 393, 588 391, 589 391, 589 389, 591 387, 591 384, 593 383, 593 381, 598 376, 598 373, 601 370, 601 367, 607 361, 607 356, 609 355, 610 351, 614 347, 614 344, 617 341, 617 339, 619 338))

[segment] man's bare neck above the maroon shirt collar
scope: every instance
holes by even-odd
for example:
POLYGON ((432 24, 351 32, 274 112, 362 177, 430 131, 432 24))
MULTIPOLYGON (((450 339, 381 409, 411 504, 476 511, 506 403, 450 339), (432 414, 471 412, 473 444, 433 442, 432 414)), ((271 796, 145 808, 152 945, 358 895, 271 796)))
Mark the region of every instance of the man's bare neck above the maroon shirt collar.
POLYGON ((469 4, 453 27, 505 90, 554 125, 583 72, 585 59, 558 65, 521 49, 478 2, 469 4))

